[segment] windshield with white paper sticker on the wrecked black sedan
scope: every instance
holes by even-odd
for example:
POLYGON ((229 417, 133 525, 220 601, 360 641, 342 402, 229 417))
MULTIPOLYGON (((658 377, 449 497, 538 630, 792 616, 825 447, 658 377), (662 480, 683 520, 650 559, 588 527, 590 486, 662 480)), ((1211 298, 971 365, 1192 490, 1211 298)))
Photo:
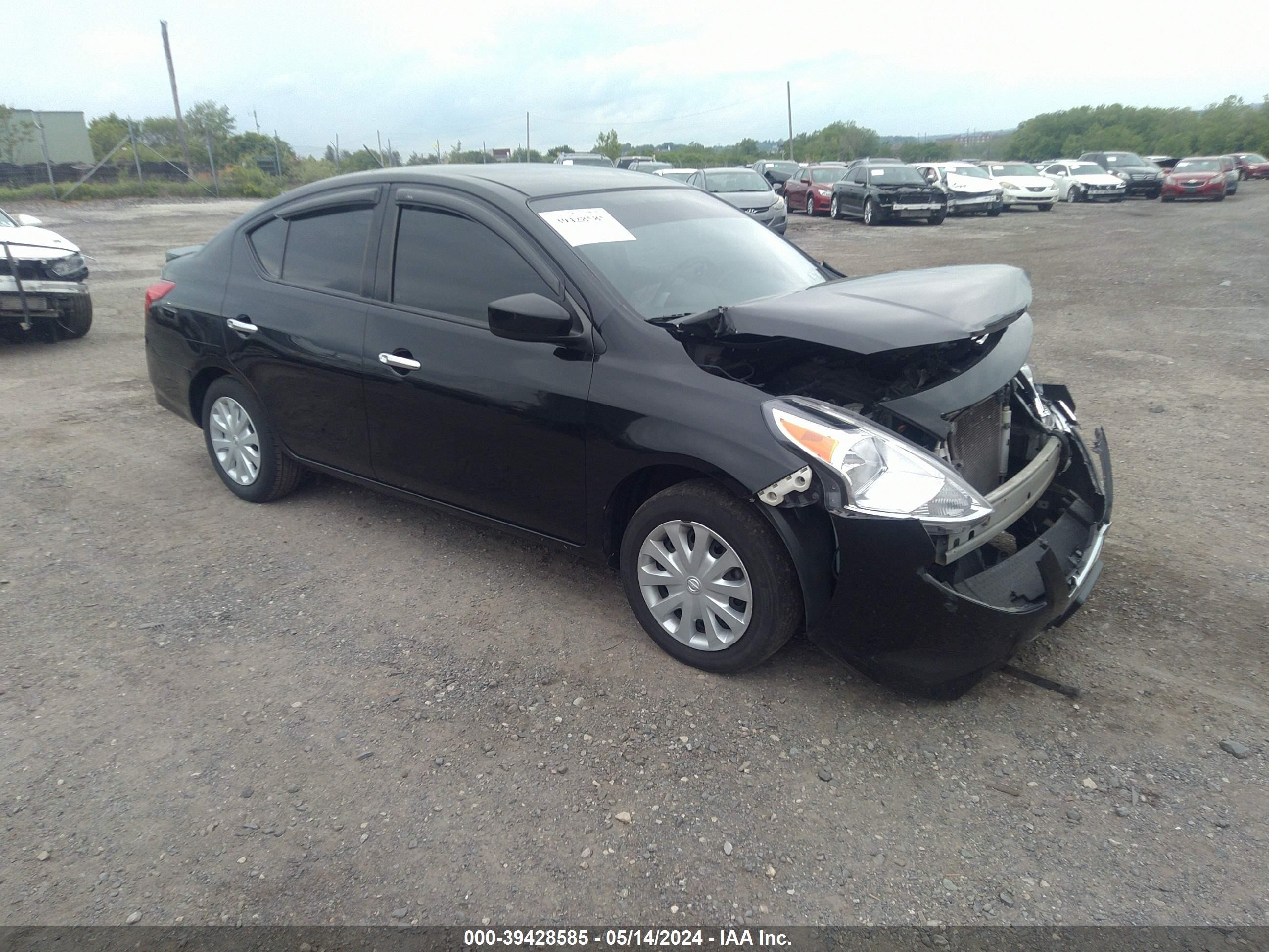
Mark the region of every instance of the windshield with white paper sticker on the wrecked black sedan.
POLYGON ((692 189, 560 195, 529 207, 643 317, 697 314, 824 282, 784 239, 692 189), (552 212, 571 208, 588 209, 591 223, 579 230, 552 222, 552 212))

